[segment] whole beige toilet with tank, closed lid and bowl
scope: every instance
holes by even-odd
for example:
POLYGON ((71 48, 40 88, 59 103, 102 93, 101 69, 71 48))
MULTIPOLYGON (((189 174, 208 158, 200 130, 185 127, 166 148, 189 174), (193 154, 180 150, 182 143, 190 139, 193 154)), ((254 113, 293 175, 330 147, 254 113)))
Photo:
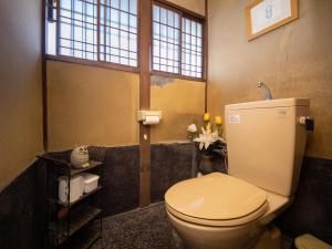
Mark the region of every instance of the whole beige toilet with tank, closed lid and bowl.
POLYGON ((293 199, 304 153, 309 98, 226 105, 228 173, 172 186, 166 211, 191 249, 247 249, 293 199))

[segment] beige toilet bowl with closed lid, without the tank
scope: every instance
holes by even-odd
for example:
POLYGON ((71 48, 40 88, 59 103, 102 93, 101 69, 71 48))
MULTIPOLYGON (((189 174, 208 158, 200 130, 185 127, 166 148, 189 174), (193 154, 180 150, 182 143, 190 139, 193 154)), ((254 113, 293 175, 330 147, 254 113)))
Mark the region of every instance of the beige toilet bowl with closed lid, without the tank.
POLYGON ((173 227, 189 248, 246 249, 290 199, 212 173, 174 185, 165 203, 173 227))

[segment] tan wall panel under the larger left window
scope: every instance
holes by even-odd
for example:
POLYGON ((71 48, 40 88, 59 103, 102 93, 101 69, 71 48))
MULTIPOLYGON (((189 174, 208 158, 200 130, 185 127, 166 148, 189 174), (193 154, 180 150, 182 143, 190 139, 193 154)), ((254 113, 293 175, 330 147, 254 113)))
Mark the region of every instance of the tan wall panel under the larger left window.
POLYGON ((48 62, 49 149, 138 143, 138 74, 48 62))

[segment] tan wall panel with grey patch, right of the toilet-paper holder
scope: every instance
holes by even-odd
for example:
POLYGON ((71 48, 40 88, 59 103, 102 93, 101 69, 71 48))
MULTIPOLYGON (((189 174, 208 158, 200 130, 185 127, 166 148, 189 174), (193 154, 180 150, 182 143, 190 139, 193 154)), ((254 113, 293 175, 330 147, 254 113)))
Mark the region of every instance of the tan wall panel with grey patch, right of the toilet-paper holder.
POLYGON ((151 89, 152 110, 162 110, 159 125, 152 126, 152 142, 184 141, 187 126, 200 124, 205 108, 205 83, 173 80, 151 89))

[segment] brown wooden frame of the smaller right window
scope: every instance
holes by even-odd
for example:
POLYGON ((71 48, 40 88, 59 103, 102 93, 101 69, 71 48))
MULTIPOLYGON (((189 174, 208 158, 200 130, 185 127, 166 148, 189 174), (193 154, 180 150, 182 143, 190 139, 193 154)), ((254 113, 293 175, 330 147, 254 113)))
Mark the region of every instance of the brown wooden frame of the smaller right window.
POLYGON ((175 3, 172 3, 167 0, 152 0, 152 31, 153 31, 153 7, 154 6, 158 6, 162 7, 164 9, 174 11, 176 13, 179 14, 179 73, 170 73, 170 72, 164 72, 164 71, 157 71, 157 70, 153 70, 153 54, 154 54, 154 46, 153 46, 153 42, 154 42, 154 37, 153 33, 151 35, 151 50, 152 50, 152 55, 151 55, 151 73, 153 75, 158 75, 158 76, 165 76, 165 77, 176 77, 176 79, 183 79, 183 80, 189 80, 189 81, 198 81, 198 82, 205 82, 206 81, 206 56, 207 56, 207 48, 206 48, 206 18, 204 15, 200 15, 196 12, 193 12, 188 9, 185 9, 183 7, 179 7, 175 3), (187 18, 190 19, 193 21, 199 22, 201 24, 201 33, 203 33, 203 55, 201 55, 201 77, 195 77, 195 76, 188 76, 188 75, 183 75, 181 74, 181 54, 183 54, 183 18, 187 18))

